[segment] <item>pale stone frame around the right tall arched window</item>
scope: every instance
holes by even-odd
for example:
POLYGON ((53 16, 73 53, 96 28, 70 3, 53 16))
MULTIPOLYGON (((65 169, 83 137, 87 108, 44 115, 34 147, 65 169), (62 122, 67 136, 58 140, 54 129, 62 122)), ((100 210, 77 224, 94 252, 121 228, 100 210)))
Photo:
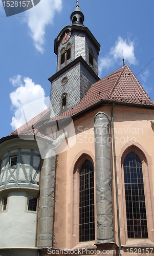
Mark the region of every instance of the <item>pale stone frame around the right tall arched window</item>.
MULTIPOLYGON (((117 156, 117 165, 121 168, 119 169, 118 175, 118 197, 119 204, 121 205, 120 210, 120 228, 124 233, 121 234, 121 244, 127 244, 130 241, 136 241, 137 245, 141 244, 142 241, 152 241, 154 242, 154 197, 152 195, 152 160, 147 154, 144 148, 137 142, 128 142, 123 146, 120 156, 117 156), (144 181, 144 194, 145 194, 145 205, 146 205, 146 217, 147 217, 147 239, 129 239, 127 236, 127 218, 126 218, 126 202, 125 202, 125 187, 124 187, 124 168, 123 162, 126 155, 130 152, 134 152, 142 162, 142 172, 144 181)), ((118 174, 118 173, 117 173, 118 174)), ((117 218, 117 217, 116 217, 117 218)), ((116 221, 116 220, 115 220, 116 221)))

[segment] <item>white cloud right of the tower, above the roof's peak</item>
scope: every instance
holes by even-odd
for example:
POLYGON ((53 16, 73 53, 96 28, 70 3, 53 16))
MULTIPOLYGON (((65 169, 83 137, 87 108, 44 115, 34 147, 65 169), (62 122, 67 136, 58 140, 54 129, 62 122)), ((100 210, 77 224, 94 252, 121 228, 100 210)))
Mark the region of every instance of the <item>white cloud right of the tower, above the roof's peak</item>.
POLYGON ((115 42, 115 46, 111 47, 109 53, 99 59, 99 75, 101 74, 103 69, 109 69, 114 66, 116 62, 122 63, 122 51, 125 59, 125 63, 129 65, 137 65, 138 61, 134 55, 134 41, 130 41, 129 39, 123 39, 118 36, 118 40, 115 42))

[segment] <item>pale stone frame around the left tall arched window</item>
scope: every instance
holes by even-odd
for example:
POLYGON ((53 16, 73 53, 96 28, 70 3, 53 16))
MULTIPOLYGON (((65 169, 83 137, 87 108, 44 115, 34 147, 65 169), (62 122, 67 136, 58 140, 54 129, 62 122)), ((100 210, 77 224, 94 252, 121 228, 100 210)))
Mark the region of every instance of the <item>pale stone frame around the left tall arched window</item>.
POLYGON ((74 171, 73 171, 73 223, 72 223, 72 232, 73 232, 73 246, 81 243, 89 243, 93 245, 96 242, 97 238, 97 220, 96 220, 96 176, 95 176, 95 159, 89 152, 83 153, 78 156, 77 160, 74 164, 74 171), (85 160, 90 160, 94 166, 94 205, 95 205, 95 240, 93 241, 86 241, 86 242, 79 242, 79 173, 82 167, 82 164, 85 160))

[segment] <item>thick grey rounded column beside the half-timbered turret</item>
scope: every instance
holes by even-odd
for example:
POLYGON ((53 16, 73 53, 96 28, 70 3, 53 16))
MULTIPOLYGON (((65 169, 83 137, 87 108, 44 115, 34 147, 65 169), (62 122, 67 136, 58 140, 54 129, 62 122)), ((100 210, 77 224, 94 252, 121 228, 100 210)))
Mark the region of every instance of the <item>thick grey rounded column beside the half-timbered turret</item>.
POLYGON ((37 247, 53 247, 56 155, 54 147, 43 160, 40 178, 37 247))

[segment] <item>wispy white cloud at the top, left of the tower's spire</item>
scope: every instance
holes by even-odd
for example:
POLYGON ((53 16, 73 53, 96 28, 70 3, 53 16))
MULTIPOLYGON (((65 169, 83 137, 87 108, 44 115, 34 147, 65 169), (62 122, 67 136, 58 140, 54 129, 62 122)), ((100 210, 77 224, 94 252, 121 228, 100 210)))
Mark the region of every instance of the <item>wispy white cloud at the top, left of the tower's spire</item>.
POLYGON ((43 53, 43 45, 45 44, 46 26, 53 24, 55 13, 61 8, 62 0, 41 0, 39 4, 25 12, 25 20, 30 29, 34 46, 41 53, 43 53))

